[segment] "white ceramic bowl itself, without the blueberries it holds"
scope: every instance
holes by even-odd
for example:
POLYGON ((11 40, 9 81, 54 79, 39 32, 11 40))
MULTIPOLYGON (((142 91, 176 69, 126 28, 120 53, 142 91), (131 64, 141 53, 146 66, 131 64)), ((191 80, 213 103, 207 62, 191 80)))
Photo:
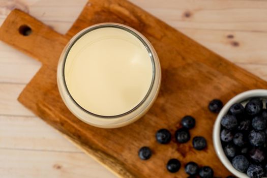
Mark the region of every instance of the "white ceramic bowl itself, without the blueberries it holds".
POLYGON ((214 124, 213 128, 213 144, 215 148, 215 152, 218 155, 219 159, 223 163, 223 165, 235 176, 237 177, 248 177, 246 173, 242 173, 238 170, 236 170, 231 162, 228 160, 228 158, 225 156, 221 140, 220 140, 220 130, 221 130, 221 120, 222 117, 228 112, 229 108, 234 104, 234 103, 239 103, 246 101, 250 98, 253 97, 262 97, 266 98, 267 97, 267 90, 250 90, 247 92, 243 92, 239 95, 236 95, 233 97, 231 100, 229 100, 222 110, 220 111, 219 115, 217 116, 216 122, 214 124))

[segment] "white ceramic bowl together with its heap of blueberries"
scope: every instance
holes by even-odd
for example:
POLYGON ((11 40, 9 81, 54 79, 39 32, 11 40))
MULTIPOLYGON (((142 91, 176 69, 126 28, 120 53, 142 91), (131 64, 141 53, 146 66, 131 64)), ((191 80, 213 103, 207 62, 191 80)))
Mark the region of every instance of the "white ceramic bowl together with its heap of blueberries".
POLYGON ((267 177, 267 90, 251 90, 229 100, 213 130, 216 154, 237 177, 267 177))

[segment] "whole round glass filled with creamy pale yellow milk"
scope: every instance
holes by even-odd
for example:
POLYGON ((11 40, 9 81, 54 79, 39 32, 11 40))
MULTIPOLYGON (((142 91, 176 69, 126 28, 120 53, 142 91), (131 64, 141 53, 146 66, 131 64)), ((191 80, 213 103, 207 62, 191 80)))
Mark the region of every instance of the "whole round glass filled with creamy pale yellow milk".
POLYGON ((117 128, 138 120, 159 93, 161 69, 151 43, 135 29, 101 23, 83 29, 63 50, 57 84, 81 121, 117 128))

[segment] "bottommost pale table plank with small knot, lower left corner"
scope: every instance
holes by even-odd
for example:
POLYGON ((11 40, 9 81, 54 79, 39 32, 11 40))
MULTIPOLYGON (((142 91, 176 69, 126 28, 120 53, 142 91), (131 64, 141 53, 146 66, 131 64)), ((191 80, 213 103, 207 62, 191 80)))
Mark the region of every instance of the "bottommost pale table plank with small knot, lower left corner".
POLYGON ((84 153, 0 149, 0 177, 115 177, 84 153))

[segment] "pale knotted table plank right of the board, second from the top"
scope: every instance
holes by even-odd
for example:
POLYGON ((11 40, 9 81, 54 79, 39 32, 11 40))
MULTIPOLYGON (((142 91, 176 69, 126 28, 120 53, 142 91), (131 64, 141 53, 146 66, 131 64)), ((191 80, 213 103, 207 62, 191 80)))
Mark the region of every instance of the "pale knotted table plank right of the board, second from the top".
POLYGON ((190 28, 179 28, 179 30, 233 63, 267 64, 265 33, 190 28), (229 35, 233 38, 227 38, 229 35))

